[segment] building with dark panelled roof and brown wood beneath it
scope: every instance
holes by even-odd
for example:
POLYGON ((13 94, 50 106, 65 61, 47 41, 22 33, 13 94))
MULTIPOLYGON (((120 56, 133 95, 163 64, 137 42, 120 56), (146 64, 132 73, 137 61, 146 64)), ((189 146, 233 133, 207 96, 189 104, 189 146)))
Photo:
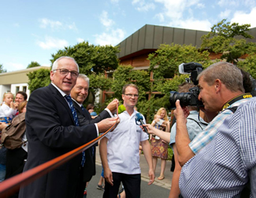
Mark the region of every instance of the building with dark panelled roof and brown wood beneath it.
MULTIPOLYGON (((117 57, 120 59, 120 64, 130 64, 134 69, 148 69, 150 67, 150 61, 147 60, 148 54, 154 53, 161 44, 173 43, 199 48, 202 44, 202 35, 208 33, 209 31, 146 24, 117 45, 120 48, 117 57)), ((250 35, 254 38, 247 40, 256 42, 256 27, 250 29, 250 35)), ((210 53, 210 58, 213 60, 220 57, 221 53, 210 53)), ((103 91, 102 101, 105 101, 106 94, 112 94, 112 92, 103 91)))

